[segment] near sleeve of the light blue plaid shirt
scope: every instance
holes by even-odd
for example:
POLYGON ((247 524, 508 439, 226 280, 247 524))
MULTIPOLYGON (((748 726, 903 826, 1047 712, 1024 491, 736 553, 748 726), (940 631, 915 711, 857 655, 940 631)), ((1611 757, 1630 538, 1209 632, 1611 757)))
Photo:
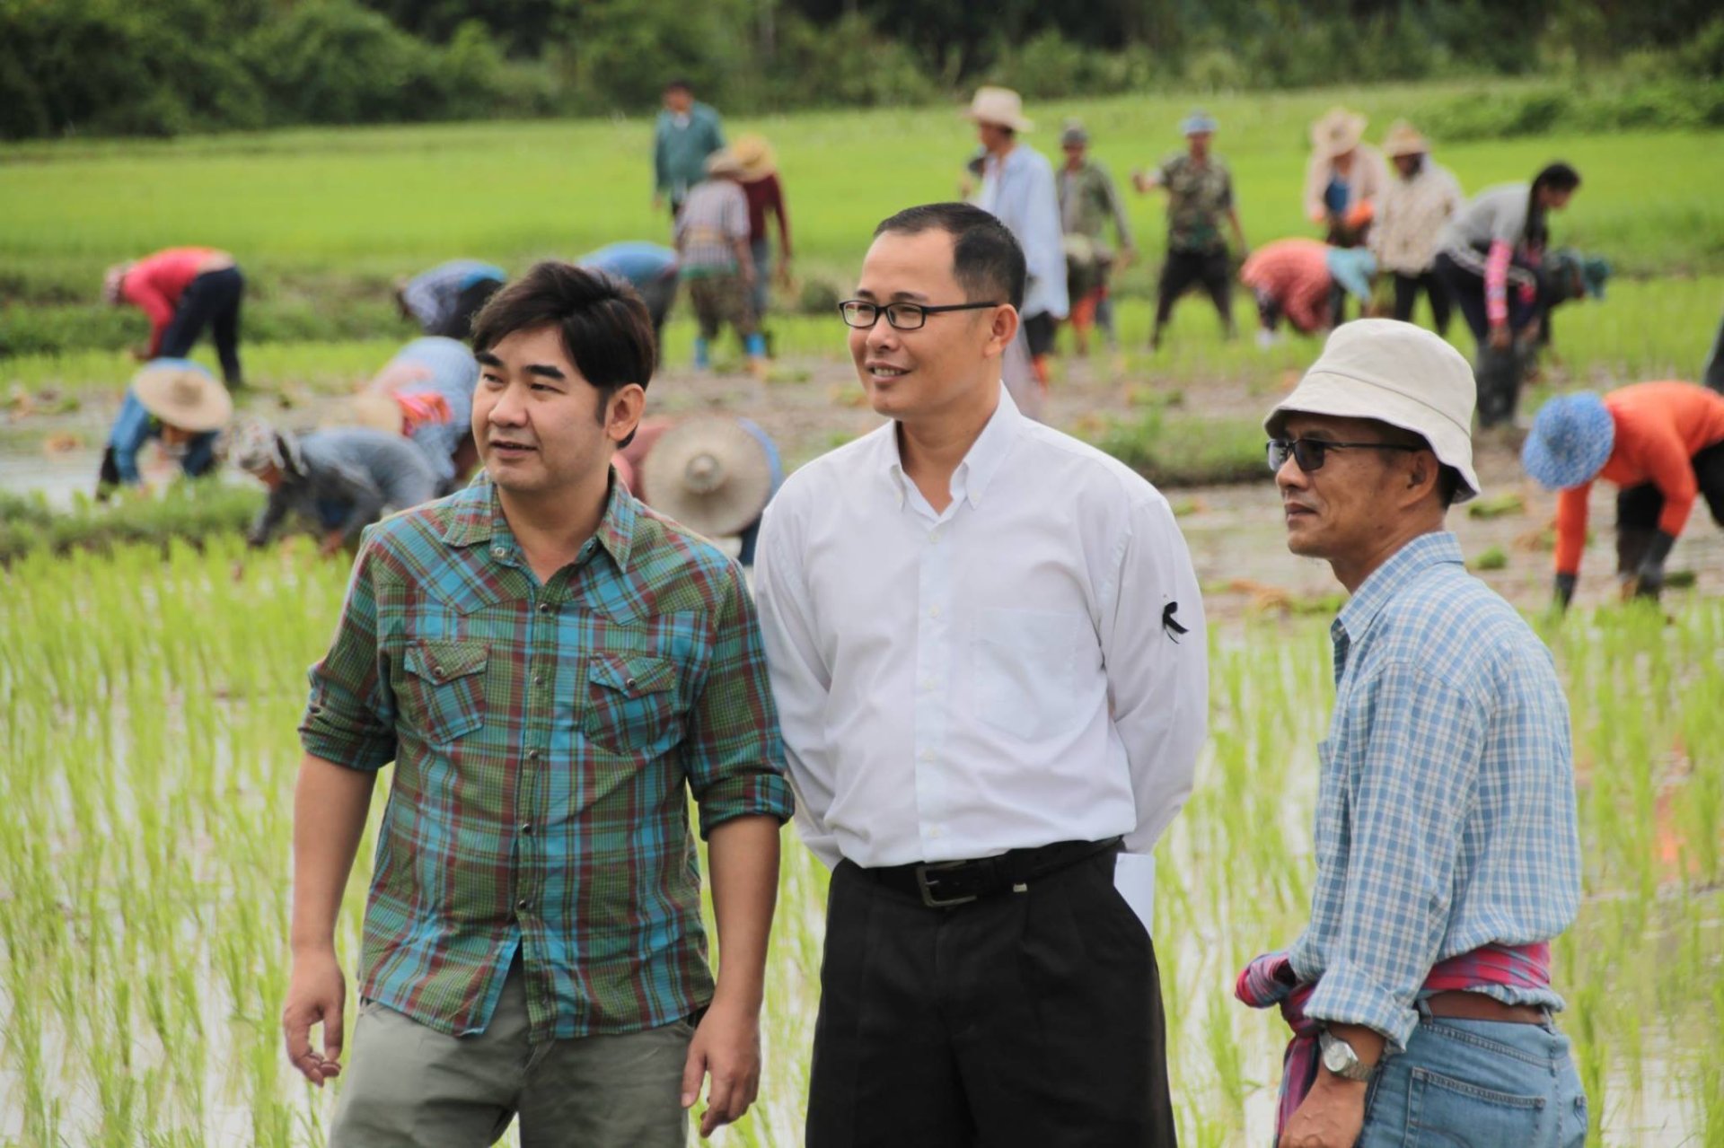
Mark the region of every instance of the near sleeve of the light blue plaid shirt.
POLYGON ((1484 719, 1453 684, 1391 662, 1359 683, 1343 726, 1352 841, 1340 927, 1305 1014, 1405 1048, 1448 929, 1484 719))

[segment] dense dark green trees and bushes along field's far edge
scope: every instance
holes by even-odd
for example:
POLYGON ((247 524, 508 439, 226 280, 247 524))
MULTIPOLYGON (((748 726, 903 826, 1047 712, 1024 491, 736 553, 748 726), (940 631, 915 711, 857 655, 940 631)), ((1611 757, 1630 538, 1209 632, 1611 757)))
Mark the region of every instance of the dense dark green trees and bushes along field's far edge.
MULTIPOLYGON (((1705 0, 0 0, 0 138, 640 114, 672 76, 736 112, 1231 91, 1638 64, 1721 109, 1705 0), (1715 86, 1715 84, 1714 84, 1715 86), (1708 95, 1710 93, 1710 95, 1708 95)), ((1650 122, 1681 124, 1676 119, 1650 122)))

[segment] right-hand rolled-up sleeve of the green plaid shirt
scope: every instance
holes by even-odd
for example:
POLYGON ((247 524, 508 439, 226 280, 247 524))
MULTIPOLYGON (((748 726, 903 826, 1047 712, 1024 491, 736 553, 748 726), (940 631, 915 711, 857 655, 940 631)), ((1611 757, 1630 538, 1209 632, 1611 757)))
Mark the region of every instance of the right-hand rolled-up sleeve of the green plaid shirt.
POLYGON ((684 758, 702 838, 734 817, 784 822, 795 812, 760 626, 741 567, 731 564, 724 577, 712 657, 690 708, 684 758))

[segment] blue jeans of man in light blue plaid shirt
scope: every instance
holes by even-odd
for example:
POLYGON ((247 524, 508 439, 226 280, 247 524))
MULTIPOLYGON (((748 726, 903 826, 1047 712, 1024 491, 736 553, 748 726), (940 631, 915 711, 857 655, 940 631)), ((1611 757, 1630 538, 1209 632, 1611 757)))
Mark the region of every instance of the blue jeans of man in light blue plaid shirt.
POLYGON ((1383 1062, 1359 1148, 1581 1148, 1586 1093, 1550 1024, 1422 1019, 1383 1062))

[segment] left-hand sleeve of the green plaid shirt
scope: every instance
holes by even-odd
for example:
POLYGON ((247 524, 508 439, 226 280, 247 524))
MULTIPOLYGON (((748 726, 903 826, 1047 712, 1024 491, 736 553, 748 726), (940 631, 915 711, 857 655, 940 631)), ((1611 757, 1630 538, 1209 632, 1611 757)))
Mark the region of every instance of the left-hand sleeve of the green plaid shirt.
POLYGON ((348 769, 376 771, 395 760, 395 693, 378 643, 381 567, 367 536, 353 562, 334 641, 310 669, 312 689, 300 721, 305 752, 348 769))

